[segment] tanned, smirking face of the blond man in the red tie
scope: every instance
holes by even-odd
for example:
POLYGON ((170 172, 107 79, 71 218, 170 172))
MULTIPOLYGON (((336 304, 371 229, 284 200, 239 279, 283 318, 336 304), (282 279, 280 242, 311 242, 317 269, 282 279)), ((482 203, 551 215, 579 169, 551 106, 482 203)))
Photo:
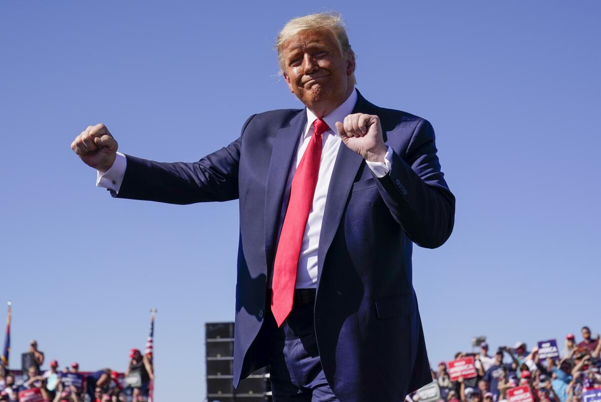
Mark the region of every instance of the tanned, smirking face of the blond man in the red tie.
POLYGON ((340 106, 353 88, 355 61, 342 54, 330 31, 301 31, 283 46, 284 79, 301 102, 323 115, 340 106))

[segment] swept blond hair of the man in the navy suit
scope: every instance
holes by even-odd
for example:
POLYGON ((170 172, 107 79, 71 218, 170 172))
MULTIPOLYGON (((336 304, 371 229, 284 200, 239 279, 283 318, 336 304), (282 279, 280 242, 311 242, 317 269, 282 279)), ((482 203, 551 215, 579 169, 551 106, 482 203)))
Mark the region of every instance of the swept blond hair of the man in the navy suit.
MULTIPOLYGON (((280 73, 284 73, 284 55, 282 50, 284 43, 291 37, 299 34, 302 31, 330 31, 334 34, 338 42, 340 53, 346 55, 350 53, 355 61, 355 52, 350 48, 349 37, 344 29, 344 21, 342 16, 335 11, 326 11, 325 13, 309 14, 304 17, 295 17, 288 21, 284 28, 279 31, 273 48, 278 52, 278 63, 280 73)), ((353 73, 353 84, 356 84, 355 74, 353 73)))

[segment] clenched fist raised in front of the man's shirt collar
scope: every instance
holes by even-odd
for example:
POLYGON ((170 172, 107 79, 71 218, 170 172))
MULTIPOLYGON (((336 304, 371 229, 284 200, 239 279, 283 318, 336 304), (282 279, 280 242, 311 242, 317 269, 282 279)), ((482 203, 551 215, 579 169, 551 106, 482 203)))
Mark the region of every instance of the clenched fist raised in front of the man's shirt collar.
POLYGON ((343 123, 336 122, 336 129, 344 144, 366 161, 384 162, 387 147, 379 117, 363 113, 349 114, 344 117, 343 123))

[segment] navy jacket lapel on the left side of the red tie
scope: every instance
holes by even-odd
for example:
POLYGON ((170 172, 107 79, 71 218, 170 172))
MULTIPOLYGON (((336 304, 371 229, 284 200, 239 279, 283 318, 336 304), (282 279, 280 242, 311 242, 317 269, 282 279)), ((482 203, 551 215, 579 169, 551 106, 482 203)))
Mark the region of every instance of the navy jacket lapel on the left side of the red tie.
POLYGON ((290 172, 294 151, 301 141, 301 132, 307 123, 307 112, 303 109, 290 120, 290 125, 279 129, 269 162, 265 193, 265 253, 267 270, 275 258, 276 238, 279 232, 279 219, 282 211, 284 190, 290 172))

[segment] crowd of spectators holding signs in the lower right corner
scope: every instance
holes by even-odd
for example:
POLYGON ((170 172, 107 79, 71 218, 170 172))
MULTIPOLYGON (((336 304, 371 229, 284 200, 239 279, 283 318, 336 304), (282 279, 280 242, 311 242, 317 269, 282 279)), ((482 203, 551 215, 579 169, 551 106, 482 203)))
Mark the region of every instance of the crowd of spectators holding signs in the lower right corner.
MULTIPOLYGON (((581 342, 568 334, 556 358, 540 358, 538 347, 528 351, 525 342, 501 346, 492 356, 486 342, 480 344, 480 353, 456 353, 455 360, 474 357, 477 375, 451 381, 447 362, 438 363, 432 378, 438 384, 439 401, 511 402, 508 390, 528 385, 534 402, 582 402, 583 392, 601 389, 601 342, 588 327, 581 333, 581 342)), ((408 395, 407 402, 418 402, 419 395, 408 395)))

